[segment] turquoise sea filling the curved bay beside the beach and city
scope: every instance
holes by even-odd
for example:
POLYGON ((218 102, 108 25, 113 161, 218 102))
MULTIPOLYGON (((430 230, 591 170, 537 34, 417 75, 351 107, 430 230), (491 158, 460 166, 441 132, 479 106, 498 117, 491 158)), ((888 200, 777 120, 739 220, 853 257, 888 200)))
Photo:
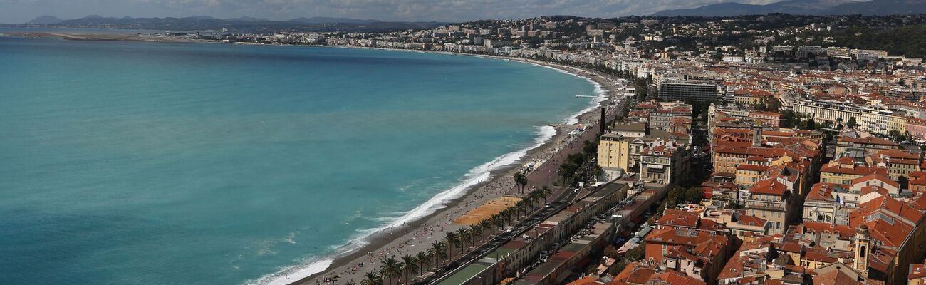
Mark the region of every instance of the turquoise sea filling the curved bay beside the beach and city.
POLYGON ((0 36, 0 284, 267 281, 427 214, 592 92, 474 56, 0 36))

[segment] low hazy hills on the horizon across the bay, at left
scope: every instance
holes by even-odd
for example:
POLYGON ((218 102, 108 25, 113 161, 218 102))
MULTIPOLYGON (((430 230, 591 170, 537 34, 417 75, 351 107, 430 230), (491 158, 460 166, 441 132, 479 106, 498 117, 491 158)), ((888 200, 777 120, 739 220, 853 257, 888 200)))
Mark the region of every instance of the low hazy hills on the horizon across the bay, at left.
POLYGON ((66 28, 106 28, 157 31, 396 31, 428 29, 443 26, 443 22, 389 22, 377 19, 296 18, 284 21, 262 18, 218 19, 209 16, 187 18, 112 18, 97 15, 81 19, 58 19, 42 16, 23 25, 66 28))

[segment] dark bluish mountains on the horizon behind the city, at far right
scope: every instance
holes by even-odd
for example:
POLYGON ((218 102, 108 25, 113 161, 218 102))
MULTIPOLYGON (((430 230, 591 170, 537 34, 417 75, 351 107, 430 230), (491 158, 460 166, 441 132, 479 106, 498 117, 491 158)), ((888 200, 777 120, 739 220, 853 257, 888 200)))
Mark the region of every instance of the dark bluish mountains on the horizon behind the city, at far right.
POLYGON ((882 16, 926 13, 926 0, 785 0, 767 5, 735 2, 700 6, 690 9, 662 10, 653 16, 733 17, 787 13, 795 15, 850 15, 882 16))

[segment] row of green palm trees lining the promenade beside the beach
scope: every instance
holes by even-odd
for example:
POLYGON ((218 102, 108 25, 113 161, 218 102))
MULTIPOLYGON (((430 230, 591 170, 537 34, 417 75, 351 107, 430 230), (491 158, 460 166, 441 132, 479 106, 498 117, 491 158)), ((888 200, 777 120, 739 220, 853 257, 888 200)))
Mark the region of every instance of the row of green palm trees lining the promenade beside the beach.
POLYGON ((497 229, 504 229, 506 225, 514 223, 522 215, 527 215, 536 206, 545 203, 546 198, 552 193, 553 191, 549 187, 544 186, 528 193, 527 197, 514 205, 477 224, 444 233, 444 239, 432 242, 431 248, 425 252, 416 255, 407 254, 400 259, 388 257, 380 263, 379 271, 368 272, 360 284, 383 285, 383 282, 388 282, 389 285, 392 285, 393 279, 398 279, 399 282, 405 280, 406 283, 409 283, 408 276, 410 274, 417 273, 421 276, 430 266, 437 268, 442 265, 442 261, 450 261, 454 256, 454 247, 459 250, 457 253, 464 253, 469 247, 475 247, 476 242, 482 242, 486 238, 494 236, 497 229), (492 234, 487 235, 487 230, 492 230, 492 234), (405 279, 401 279, 403 276, 405 279))

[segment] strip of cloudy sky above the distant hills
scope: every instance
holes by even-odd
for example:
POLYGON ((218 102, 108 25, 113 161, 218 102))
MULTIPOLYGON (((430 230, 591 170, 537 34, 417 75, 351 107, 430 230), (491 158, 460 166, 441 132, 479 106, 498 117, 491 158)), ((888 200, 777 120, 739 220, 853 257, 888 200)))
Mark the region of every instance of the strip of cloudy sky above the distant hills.
MULTIPOLYGON (((738 0, 768 4, 777 0, 738 0)), ((620 17, 731 0, 0 0, 0 23, 48 15, 104 17, 339 17, 394 21, 525 19, 543 15, 620 17)))

